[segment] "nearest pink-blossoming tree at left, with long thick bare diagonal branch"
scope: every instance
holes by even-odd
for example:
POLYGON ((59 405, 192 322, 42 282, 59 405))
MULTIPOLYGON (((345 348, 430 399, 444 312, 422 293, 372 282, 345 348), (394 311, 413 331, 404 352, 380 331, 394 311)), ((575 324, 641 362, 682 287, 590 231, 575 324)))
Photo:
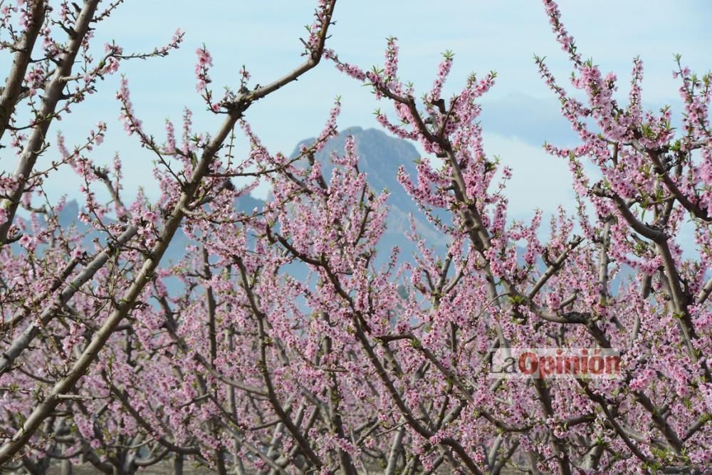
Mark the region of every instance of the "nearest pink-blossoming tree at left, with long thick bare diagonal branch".
POLYGON ((180 148, 172 126, 164 145, 158 145, 143 130, 134 115, 127 82, 122 81, 117 93, 122 121, 127 132, 137 135, 142 145, 157 155, 156 174, 162 191, 158 202, 139 196, 126 205, 120 194, 120 161, 108 169, 95 165, 89 157, 92 148, 103 140, 103 122, 89 133, 85 144, 74 150, 58 137, 61 160, 52 162, 48 169, 36 169, 39 155, 49 146, 51 123, 70 113, 70 105, 93 93, 98 81, 115 73, 121 61, 164 56, 182 41, 178 32, 168 46, 149 54, 125 54, 112 43, 106 45, 103 56, 95 58, 91 31, 120 3, 100 9, 100 0, 85 1, 82 7, 68 1, 53 6, 35 0, 2 9, 2 28, 9 39, 1 47, 14 53, 14 62, 1 97, 0 130, 12 137, 11 147, 18 151, 19 158, 15 171, 2 177, 0 207, 4 256, 0 378, 4 400, 9 400, 3 408, 9 424, 2 432, 0 465, 31 444, 43 424, 49 424, 44 436, 53 437, 56 408, 63 401, 75 399, 83 375, 120 329, 122 320, 145 305, 142 295, 155 281, 159 262, 184 218, 231 188, 219 170, 226 168, 229 174, 239 175, 250 165, 231 162, 231 131, 256 100, 316 66, 335 2, 318 5, 304 41, 305 61, 267 85, 227 90, 224 97, 214 98, 206 87, 211 58, 199 50, 199 93, 225 120, 214 135, 196 135, 192 140, 187 113, 180 148), (228 155, 223 157, 225 153, 228 155), (81 217, 102 235, 96 249, 84 251, 78 245, 81 236, 58 226, 56 214, 62 203, 37 207, 33 200, 33 196, 43 197, 44 179, 61 166, 73 167, 85 181, 81 191, 86 212, 81 217), (177 166, 181 168, 173 168, 177 166), (96 184, 108 187, 112 196, 108 206, 95 200, 92 187, 96 184), (17 217, 19 207, 31 213, 30 220, 17 217), (116 219, 106 219, 109 213, 116 219), (38 216, 42 215, 40 223, 38 216), (23 251, 11 246, 15 242, 23 251))

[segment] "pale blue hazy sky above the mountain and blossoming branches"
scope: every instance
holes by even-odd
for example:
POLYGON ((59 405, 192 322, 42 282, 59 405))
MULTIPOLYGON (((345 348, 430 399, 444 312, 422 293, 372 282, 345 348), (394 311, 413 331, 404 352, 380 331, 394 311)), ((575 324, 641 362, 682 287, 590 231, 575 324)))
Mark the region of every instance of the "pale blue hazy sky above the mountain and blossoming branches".
MULTIPOLYGON (((128 0, 100 24, 95 45, 113 38, 127 52, 149 51, 182 28, 186 37, 179 51, 167 58, 127 62, 122 72, 130 81, 137 115, 159 139, 164 137, 164 119, 179 122, 184 106, 194 110, 197 131, 213 132, 220 118, 204 113, 195 92, 195 49, 205 43, 211 52, 217 91, 236 84, 243 64, 253 80, 267 83, 301 61, 298 38, 303 25, 311 22, 313 5, 309 0, 128 0)), ((677 113, 679 83, 671 77, 674 53, 681 53, 693 70, 704 72, 712 65, 711 2, 569 0, 560 6, 579 51, 604 71, 619 75, 621 95, 627 93, 631 59, 639 55, 645 68, 644 101, 656 108, 670 103, 677 113)), ((545 140, 566 144, 573 137, 533 62, 534 53, 547 56, 560 82, 568 85, 569 64, 540 1, 340 0, 335 19, 328 46, 363 68, 382 64, 385 38, 397 36, 400 75, 412 80, 419 93, 431 85, 446 49, 455 52, 451 91, 461 88, 471 71, 497 71, 497 84, 483 100, 482 120, 486 151, 500 155, 514 169, 511 215, 528 216, 535 206, 551 211, 558 203, 571 204, 567 167, 541 150, 545 140)), ((152 157, 117 121, 118 80, 100 84, 100 93, 55 122, 51 133, 61 128, 68 144, 78 143, 97 120, 106 120, 107 140, 93 157, 108 163, 119 151, 126 193, 133 195, 143 185, 152 194, 152 157)), ((342 96, 341 127, 377 127, 373 111, 388 109, 367 88, 325 62, 298 83, 253 105, 247 118, 271 150, 289 153, 299 140, 318 134, 337 95, 342 96)), ((2 168, 11 168, 9 158, 2 160, 2 168)), ((48 182, 48 190, 71 195, 78 183, 72 172, 62 172, 48 182)))

